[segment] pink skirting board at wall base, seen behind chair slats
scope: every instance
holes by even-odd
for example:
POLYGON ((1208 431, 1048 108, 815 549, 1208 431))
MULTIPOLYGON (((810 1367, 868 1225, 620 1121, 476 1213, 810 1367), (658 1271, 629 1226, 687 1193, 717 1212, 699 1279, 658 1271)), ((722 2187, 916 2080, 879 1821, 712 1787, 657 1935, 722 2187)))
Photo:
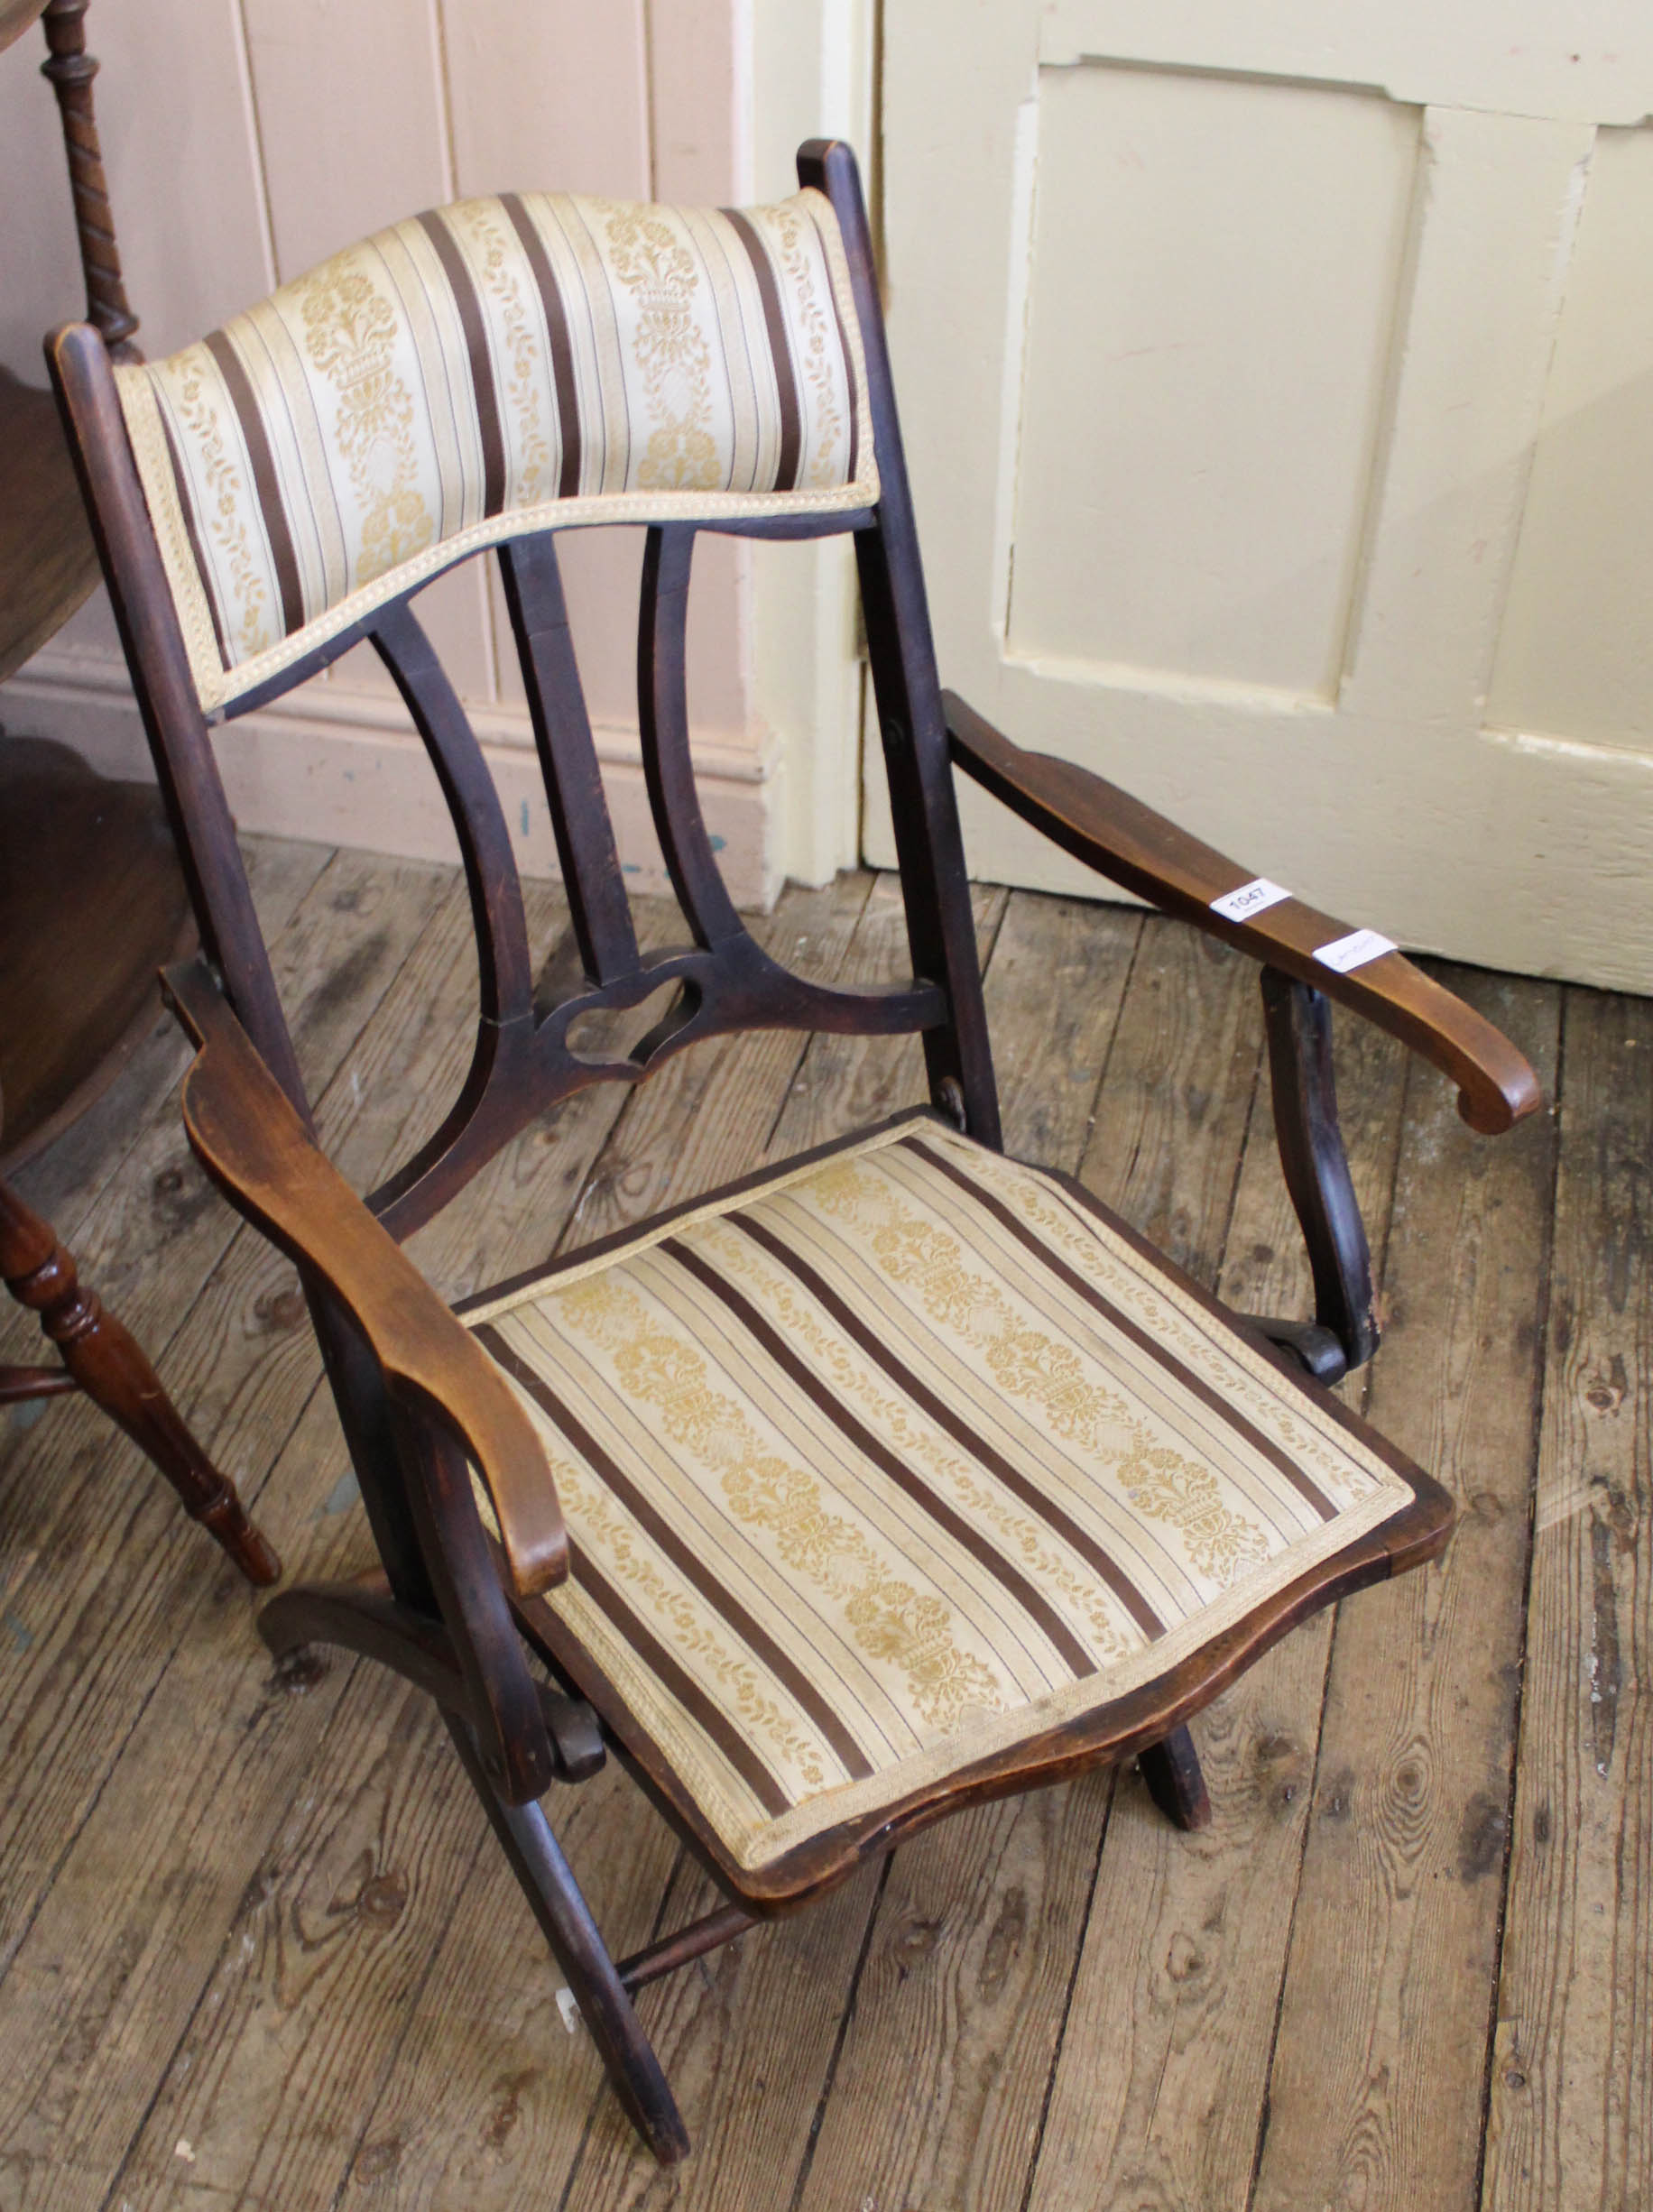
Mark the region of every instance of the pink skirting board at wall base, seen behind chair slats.
MULTIPOLYGON (((558 852, 527 708, 467 703, 493 770, 524 876, 555 878, 558 852)), ((104 776, 153 781, 126 668, 106 655, 46 646, 0 686, 0 728, 55 737, 104 776)), ((668 891, 635 730, 597 728, 597 759, 626 883, 668 891)), ((241 830, 356 845, 409 860, 458 860, 454 827, 425 748, 398 699, 310 684, 292 699, 215 730, 215 752, 241 830)), ((781 748, 695 739, 695 772, 713 852, 737 907, 779 896, 786 821, 781 748)))

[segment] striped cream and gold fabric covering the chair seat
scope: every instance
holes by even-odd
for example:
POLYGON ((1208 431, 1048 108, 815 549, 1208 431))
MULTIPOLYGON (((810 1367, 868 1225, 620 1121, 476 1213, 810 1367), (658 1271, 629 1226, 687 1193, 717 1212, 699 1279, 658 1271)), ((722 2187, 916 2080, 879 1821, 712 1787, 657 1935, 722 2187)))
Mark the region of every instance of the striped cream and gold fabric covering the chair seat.
POLYGON ((1071 1186, 929 1115, 465 1314, 547 1604, 737 1867, 1140 1688, 1412 1502, 1071 1186))

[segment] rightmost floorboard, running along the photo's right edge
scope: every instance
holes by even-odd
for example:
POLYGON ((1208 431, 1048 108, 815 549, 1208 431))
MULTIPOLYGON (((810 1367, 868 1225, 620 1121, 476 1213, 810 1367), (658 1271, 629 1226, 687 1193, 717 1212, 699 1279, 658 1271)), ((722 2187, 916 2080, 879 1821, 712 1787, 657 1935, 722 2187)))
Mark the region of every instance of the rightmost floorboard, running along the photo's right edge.
POLYGON ((1653 2203, 1653 1009, 1571 991, 1487 2212, 1653 2203))

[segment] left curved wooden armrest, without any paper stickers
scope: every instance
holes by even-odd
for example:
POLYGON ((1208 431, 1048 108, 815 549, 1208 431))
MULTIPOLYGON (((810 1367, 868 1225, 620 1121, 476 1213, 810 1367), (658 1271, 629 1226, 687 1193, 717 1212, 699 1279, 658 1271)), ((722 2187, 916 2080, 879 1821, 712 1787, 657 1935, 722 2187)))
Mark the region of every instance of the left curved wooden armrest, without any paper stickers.
POLYGON ((325 1281, 372 1345, 385 1385, 476 1464, 518 1597, 549 1590, 569 1573, 569 1537, 540 1438, 511 1387, 312 1144, 208 964, 166 969, 162 989, 201 1048, 184 1079, 184 1128, 201 1166, 237 1212, 325 1281))

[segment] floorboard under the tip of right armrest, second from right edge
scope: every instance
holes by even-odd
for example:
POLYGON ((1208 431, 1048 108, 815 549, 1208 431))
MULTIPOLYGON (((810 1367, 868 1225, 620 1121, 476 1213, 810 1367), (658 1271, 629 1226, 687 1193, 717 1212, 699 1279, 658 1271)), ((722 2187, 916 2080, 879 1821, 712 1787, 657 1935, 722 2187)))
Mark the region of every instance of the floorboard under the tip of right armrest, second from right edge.
MULTIPOLYGON (((1553 1095, 1560 991, 1449 971, 1553 1095)), ((1257 2212, 1474 2203, 1525 1644, 1553 1121, 1485 1146, 1407 1082, 1374 1427, 1458 1504, 1339 1610, 1257 2212)))

